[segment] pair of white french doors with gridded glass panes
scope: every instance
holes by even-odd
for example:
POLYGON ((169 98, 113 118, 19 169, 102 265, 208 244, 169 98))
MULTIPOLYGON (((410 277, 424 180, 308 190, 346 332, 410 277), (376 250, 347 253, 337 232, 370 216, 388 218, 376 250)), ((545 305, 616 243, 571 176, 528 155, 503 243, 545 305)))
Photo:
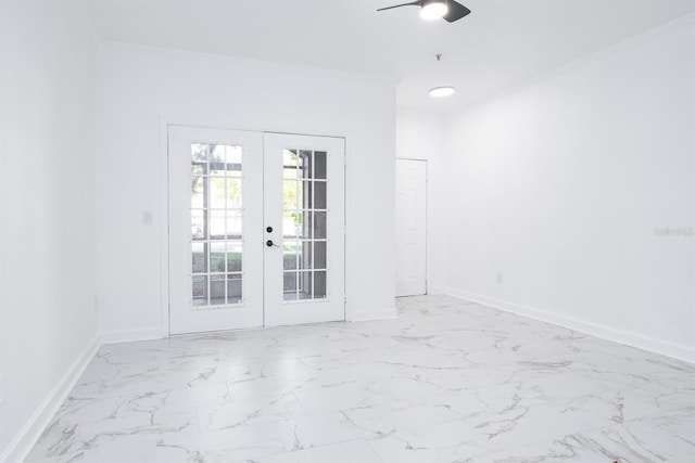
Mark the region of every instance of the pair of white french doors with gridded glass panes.
POLYGON ((169 127, 169 332, 344 320, 344 140, 169 127))

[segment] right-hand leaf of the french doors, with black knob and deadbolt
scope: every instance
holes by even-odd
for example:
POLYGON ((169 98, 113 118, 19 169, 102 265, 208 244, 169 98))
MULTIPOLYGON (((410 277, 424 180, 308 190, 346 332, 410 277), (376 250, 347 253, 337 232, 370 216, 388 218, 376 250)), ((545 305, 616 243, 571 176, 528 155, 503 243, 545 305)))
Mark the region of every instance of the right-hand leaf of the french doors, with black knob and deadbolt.
POLYGON ((345 319, 344 150, 343 139, 265 136, 266 325, 345 319))

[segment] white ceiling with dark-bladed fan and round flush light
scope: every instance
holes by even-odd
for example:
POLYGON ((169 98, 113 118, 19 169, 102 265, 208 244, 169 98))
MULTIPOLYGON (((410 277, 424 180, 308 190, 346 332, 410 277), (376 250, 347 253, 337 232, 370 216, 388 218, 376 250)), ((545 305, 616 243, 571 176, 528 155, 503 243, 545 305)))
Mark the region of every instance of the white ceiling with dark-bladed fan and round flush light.
POLYGON ((106 41, 393 76, 397 104, 450 111, 695 12, 695 0, 464 0, 425 22, 399 0, 89 0, 106 41), (441 53, 443 60, 435 61, 441 53), (427 90, 458 89, 446 100, 427 90))

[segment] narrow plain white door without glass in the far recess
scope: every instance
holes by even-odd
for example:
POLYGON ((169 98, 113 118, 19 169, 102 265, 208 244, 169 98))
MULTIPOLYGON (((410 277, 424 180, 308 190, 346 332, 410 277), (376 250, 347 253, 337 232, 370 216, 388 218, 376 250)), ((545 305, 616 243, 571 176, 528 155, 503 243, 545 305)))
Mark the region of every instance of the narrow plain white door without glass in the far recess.
POLYGON ((396 296, 427 293, 427 162, 396 159, 396 296))

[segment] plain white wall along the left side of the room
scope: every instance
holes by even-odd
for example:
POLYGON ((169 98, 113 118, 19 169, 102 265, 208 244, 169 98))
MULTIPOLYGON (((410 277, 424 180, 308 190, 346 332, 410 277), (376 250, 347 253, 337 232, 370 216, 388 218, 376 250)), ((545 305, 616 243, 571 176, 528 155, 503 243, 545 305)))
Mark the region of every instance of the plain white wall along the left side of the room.
POLYGON ((78 10, 0 2, 0 461, 96 347, 94 57, 78 10))

